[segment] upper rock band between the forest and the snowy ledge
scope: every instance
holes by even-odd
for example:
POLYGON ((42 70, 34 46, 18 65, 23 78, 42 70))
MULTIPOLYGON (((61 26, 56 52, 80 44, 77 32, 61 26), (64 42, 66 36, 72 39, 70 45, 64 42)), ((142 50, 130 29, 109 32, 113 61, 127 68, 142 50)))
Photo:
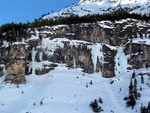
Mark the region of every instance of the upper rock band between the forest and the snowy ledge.
POLYGON ((126 19, 116 22, 101 21, 53 27, 46 26, 40 28, 39 35, 41 38, 67 37, 68 39, 120 46, 126 44, 130 38, 137 38, 137 35, 143 37, 142 34, 148 34, 149 28, 148 24, 142 25, 137 20, 126 19))

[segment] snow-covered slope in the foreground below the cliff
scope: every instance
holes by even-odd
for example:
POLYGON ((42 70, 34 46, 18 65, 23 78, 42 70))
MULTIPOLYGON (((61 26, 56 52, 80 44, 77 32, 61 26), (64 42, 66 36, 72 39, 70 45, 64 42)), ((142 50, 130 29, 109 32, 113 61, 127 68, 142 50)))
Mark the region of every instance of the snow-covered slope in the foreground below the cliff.
MULTIPOLYGON (((141 69, 137 73, 141 71, 148 70, 141 69)), ((131 75, 129 72, 108 79, 102 78, 101 74, 85 74, 80 69, 57 67, 42 76, 27 76, 27 83, 18 88, 17 85, 3 83, 1 77, 0 113, 93 113, 89 104, 99 97, 103 99, 103 113, 135 113, 136 110, 140 113, 141 102, 147 105, 150 100, 150 88, 146 85, 150 80, 145 76, 145 84, 142 85, 140 77, 137 77, 138 89, 143 87, 142 98, 134 110, 127 109, 123 98, 128 95, 131 75), (110 84, 112 80, 115 82, 110 84)))

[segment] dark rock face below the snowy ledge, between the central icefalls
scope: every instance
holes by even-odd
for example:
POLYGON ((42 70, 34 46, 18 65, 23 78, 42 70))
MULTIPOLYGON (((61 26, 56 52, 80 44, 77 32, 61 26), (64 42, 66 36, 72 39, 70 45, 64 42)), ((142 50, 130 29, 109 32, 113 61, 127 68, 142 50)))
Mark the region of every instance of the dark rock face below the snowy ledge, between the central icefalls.
POLYGON ((64 48, 56 50, 57 56, 54 54, 54 61, 63 61, 70 68, 82 67, 84 72, 93 73, 91 50, 87 48, 87 45, 81 46, 71 47, 69 43, 65 44, 64 48))

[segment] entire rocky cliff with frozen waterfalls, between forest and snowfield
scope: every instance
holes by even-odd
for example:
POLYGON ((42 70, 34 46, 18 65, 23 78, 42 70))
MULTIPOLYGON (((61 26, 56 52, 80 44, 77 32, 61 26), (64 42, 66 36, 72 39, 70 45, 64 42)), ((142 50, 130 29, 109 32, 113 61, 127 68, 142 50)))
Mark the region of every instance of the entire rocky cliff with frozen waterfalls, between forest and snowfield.
POLYGON ((103 77, 123 74, 122 69, 149 66, 147 23, 126 19, 44 26, 36 30, 36 38, 7 47, 0 45, 6 81, 24 83, 25 75, 46 74, 60 65, 82 68, 86 73, 102 72, 103 77))

